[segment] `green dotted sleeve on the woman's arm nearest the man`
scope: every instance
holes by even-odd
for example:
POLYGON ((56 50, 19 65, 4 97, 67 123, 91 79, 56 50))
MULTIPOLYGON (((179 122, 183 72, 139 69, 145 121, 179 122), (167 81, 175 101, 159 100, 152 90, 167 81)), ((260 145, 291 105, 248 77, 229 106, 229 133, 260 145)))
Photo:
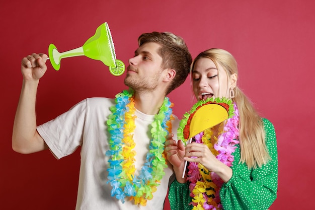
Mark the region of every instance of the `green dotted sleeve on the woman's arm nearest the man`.
POLYGON ((171 210, 191 210, 191 197, 189 196, 189 182, 179 183, 174 180, 169 189, 171 210))

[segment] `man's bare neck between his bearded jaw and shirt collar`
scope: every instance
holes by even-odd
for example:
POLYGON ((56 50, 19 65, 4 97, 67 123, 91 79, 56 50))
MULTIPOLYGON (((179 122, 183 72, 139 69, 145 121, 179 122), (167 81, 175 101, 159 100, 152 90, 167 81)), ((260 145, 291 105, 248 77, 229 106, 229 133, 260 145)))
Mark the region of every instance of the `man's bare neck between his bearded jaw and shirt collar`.
POLYGON ((134 106, 144 114, 155 115, 159 112, 165 95, 157 92, 134 94, 134 106))

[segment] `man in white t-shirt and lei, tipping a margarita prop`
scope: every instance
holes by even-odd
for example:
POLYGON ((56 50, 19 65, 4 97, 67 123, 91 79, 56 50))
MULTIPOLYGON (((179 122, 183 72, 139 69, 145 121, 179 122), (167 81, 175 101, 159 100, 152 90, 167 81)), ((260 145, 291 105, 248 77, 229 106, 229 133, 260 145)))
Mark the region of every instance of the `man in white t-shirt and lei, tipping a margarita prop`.
POLYGON ((35 101, 47 55, 22 59, 13 149, 23 154, 49 149, 60 159, 81 147, 76 209, 163 209, 173 174, 162 154, 164 141, 179 123, 166 95, 185 81, 192 58, 172 33, 145 33, 138 43, 127 67, 129 92, 116 100, 85 99, 40 126, 35 101))

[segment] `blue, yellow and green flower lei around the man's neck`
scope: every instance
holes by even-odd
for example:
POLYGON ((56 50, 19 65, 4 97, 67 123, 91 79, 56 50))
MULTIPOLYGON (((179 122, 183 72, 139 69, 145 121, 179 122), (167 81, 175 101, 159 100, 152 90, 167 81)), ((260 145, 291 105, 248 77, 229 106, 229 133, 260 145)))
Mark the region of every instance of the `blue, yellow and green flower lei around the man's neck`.
POLYGON ((133 150, 135 143, 132 134, 136 118, 133 91, 124 90, 117 94, 115 102, 116 105, 110 108, 112 114, 107 120, 110 140, 106 156, 111 157, 108 160, 107 183, 112 186, 111 196, 115 196, 122 203, 125 202, 125 197, 129 197, 130 200, 134 199, 134 204, 144 206, 147 200, 152 199, 152 193, 156 191, 165 175, 164 168, 167 168, 164 155, 165 136, 172 130, 171 120, 174 117, 171 107, 174 104, 165 97, 159 113, 154 116, 146 162, 136 176, 134 167, 136 152, 133 150))

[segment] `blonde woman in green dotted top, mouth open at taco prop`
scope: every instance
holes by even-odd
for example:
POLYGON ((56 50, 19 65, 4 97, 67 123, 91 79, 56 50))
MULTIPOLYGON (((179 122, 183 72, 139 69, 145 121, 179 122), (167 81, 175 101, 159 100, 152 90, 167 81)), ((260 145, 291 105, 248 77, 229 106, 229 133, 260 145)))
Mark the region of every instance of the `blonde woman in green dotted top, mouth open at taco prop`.
POLYGON ((197 100, 225 97, 235 112, 221 125, 195 136, 204 139, 207 132, 208 144, 193 142, 185 148, 181 140, 166 142, 176 172, 169 192, 171 209, 268 209, 278 185, 275 131, 237 87, 237 62, 223 49, 205 50, 193 61, 191 77, 197 100), (229 141, 223 158, 218 139, 229 141), (185 161, 188 173, 182 178, 185 161))

